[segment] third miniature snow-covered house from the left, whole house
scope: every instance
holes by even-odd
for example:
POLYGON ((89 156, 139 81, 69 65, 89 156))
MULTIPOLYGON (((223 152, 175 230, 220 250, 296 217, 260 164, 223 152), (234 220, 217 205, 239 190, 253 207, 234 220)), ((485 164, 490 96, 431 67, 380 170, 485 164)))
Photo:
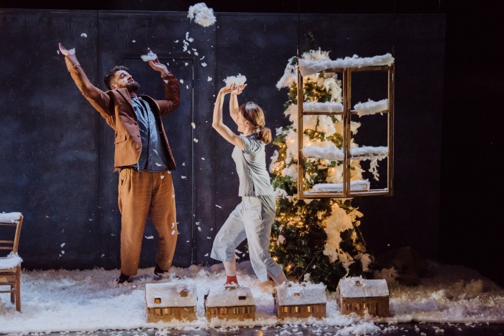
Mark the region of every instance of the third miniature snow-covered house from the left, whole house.
POLYGON ((282 284, 273 293, 274 312, 282 318, 324 318, 327 296, 324 284, 282 284))

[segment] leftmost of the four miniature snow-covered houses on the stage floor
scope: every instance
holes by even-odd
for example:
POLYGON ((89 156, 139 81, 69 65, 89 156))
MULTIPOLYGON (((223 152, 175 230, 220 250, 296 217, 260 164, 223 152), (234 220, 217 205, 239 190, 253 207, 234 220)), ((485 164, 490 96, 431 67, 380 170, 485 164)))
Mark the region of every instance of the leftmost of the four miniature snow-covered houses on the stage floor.
POLYGON ((198 297, 190 284, 146 284, 147 322, 196 319, 198 297))

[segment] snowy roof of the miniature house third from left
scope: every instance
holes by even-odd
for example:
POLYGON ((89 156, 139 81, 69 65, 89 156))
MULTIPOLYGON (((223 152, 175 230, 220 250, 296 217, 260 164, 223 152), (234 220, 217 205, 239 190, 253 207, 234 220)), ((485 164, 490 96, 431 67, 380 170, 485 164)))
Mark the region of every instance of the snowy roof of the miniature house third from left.
POLYGON ((275 287, 280 305, 326 303, 324 284, 282 284, 275 287))

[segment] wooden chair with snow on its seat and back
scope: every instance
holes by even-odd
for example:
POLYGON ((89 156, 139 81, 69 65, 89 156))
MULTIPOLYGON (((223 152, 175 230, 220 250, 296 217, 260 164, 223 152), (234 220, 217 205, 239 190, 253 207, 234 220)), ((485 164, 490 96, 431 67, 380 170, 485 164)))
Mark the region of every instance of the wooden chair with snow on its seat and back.
MULTIPOLYGON (((0 213, 0 250, 10 253, 0 255, 0 293, 11 293, 11 303, 21 312, 21 262, 17 254, 23 215, 19 212, 0 213), (9 286, 4 290, 4 286, 9 286)), ((2 251, 0 251, 2 252, 2 251)))

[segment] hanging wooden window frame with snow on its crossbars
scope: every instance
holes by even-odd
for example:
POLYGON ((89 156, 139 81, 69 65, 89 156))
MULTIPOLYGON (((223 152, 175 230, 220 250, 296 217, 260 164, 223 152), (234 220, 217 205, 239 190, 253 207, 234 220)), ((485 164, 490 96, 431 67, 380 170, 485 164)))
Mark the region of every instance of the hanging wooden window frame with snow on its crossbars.
POLYGON ((298 70, 297 109, 299 199, 393 194, 393 61, 325 69, 305 77, 298 70), (305 90, 303 78, 312 84, 326 78, 341 81, 341 103, 310 101, 315 98, 305 90), (321 166, 327 177, 312 178, 321 166))

